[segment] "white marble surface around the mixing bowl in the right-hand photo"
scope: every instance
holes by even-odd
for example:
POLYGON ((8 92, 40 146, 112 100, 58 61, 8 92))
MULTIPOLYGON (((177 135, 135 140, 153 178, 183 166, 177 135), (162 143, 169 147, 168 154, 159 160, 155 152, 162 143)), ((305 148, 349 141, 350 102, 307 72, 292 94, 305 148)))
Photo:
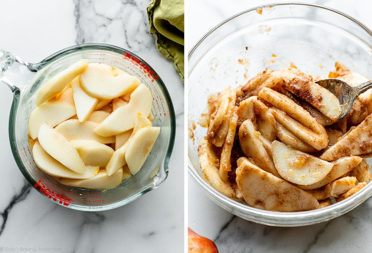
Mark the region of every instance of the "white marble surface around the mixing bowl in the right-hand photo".
MULTIPOLYGON (((190 0, 188 50, 209 29, 228 17, 274 0, 190 0), (192 17, 205 16, 200 22, 192 17)), ((371 3, 362 0, 308 0, 345 12, 372 27, 371 3)), ((188 225, 196 233, 213 240, 219 252, 372 252, 372 198, 353 211, 316 225, 280 228, 260 225, 230 214, 216 205, 188 179, 188 225)))

